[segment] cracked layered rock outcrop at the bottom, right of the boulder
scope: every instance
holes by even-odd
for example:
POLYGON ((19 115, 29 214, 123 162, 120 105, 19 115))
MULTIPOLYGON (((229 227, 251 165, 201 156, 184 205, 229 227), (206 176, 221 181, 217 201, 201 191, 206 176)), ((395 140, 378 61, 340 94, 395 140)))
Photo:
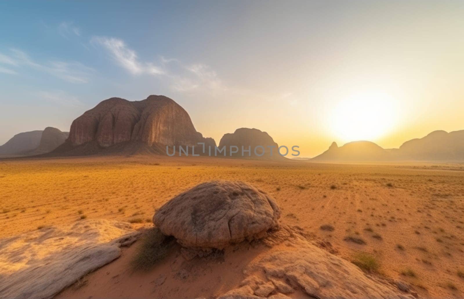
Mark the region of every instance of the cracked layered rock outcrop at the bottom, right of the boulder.
POLYGON ((307 241, 295 242, 295 246, 252 262, 245 269, 247 277, 240 286, 220 299, 288 298, 287 294, 294 295, 296 291, 320 299, 414 298, 307 241))

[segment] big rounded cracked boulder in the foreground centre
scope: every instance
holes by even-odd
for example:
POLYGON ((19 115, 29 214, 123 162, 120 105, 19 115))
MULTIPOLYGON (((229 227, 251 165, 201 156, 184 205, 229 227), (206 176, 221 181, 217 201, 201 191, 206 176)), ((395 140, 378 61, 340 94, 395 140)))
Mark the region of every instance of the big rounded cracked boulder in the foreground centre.
POLYGON ((222 249, 263 237, 279 217, 276 201, 265 192, 245 182, 211 181, 171 199, 153 222, 184 247, 222 249))

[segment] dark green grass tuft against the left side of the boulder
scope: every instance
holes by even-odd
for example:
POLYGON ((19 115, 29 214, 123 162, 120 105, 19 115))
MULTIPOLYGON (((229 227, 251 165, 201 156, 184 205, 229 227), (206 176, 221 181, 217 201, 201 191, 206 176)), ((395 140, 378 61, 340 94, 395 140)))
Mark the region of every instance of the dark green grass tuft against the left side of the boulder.
POLYGON ((150 270, 168 255, 175 243, 173 237, 161 234, 158 228, 149 229, 141 242, 131 262, 135 271, 150 270))

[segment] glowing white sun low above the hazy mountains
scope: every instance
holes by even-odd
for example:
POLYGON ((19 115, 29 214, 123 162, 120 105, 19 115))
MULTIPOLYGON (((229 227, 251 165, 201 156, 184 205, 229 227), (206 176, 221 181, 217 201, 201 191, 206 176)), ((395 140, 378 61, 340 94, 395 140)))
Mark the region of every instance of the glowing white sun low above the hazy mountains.
POLYGON ((331 129, 343 141, 375 140, 395 124, 393 98, 381 92, 344 98, 331 113, 331 129))

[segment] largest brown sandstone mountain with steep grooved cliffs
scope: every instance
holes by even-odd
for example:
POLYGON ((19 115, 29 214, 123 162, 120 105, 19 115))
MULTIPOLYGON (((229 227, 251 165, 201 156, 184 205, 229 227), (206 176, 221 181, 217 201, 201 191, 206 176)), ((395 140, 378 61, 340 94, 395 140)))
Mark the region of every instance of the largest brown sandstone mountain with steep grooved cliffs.
POLYGON ((195 130, 187 111, 172 99, 151 95, 141 101, 128 101, 112 97, 77 117, 66 143, 54 153, 147 150, 166 154, 166 145, 196 146, 202 142, 206 146, 216 145, 212 138, 195 130))

